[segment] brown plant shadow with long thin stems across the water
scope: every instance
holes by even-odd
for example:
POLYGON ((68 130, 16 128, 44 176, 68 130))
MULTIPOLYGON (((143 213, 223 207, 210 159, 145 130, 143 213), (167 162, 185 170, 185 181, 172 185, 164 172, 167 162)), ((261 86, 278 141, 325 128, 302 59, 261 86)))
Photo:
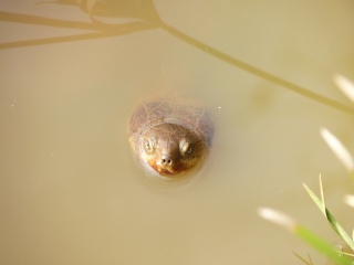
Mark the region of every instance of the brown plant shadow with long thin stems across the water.
POLYGON ((0 50, 24 47, 32 45, 53 44, 71 41, 82 41, 97 38, 125 35, 133 32, 146 31, 153 29, 163 29, 169 34, 174 35, 178 40, 192 45, 194 47, 217 57, 226 63, 229 63, 238 68, 241 68, 248 73, 251 73, 260 78, 263 78, 273 84, 285 87, 300 94, 309 99, 322 103, 329 107, 335 108, 341 112, 353 115, 354 108, 342 104, 337 100, 333 100, 321 94, 314 93, 308 88, 299 86, 287 80, 280 78, 271 73, 252 66, 246 62, 242 62, 236 57, 223 53, 197 39, 177 30, 176 28, 165 23, 160 20, 158 12, 155 8, 153 0, 56 0, 52 2, 39 2, 39 4, 63 4, 80 8, 83 12, 87 13, 91 18, 91 22, 67 21, 61 19, 51 19, 39 15, 19 14, 13 12, 0 11, 0 21, 15 22, 24 24, 45 25, 54 28, 66 28, 75 30, 90 31, 82 34, 54 36, 44 39, 34 39, 27 41, 15 41, 8 43, 0 43, 0 50), (125 18, 133 19, 127 23, 106 23, 101 18, 125 18))

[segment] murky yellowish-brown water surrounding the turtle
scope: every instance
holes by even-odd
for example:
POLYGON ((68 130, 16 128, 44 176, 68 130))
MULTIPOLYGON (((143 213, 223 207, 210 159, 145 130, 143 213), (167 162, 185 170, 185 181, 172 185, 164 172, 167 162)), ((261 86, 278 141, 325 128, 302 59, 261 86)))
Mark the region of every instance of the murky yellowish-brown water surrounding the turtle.
MULTIPOLYGON (((0 10, 90 22, 80 9, 2 1, 0 10)), ((227 54, 347 105, 352 1, 155 1, 162 19, 227 54)), ((1 19, 1 14, 0 14, 1 19)), ((116 22, 115 22, 116 23, 116 22)), ((0 43, 82 33, 1 22, 0 43)), ((152 29, 0 51, 0 264, 301 264, 323 258, 260 220, 259 206, 334 234, 305 194, 322 173, 352 229, 353 191, 319 129, 354 149, 353 116, 152 29), (216 121, 202 176, 166 192, 142 181, 127 120, 147 95, 204 102, 216 121)))

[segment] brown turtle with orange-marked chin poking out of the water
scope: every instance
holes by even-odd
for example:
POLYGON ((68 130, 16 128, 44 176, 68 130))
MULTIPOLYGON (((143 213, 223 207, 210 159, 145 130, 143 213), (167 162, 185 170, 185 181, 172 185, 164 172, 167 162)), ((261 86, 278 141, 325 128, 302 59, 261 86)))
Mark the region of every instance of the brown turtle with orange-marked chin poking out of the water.
POLYGON ((143 100, 129 120, 133 152, 154 176, 178 178, 198 169, 212 136, 214 125, 205 108, 183 98, 143 100))

